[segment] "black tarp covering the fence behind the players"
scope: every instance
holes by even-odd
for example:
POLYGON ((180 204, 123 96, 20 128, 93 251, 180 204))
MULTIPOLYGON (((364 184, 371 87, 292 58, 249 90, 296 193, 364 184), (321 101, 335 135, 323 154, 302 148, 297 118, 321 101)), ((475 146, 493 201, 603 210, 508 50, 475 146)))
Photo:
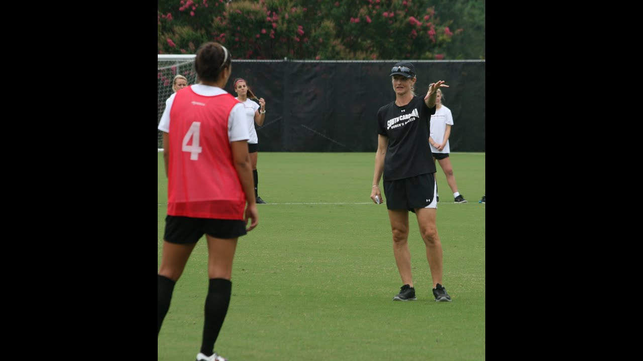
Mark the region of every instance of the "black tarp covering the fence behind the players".
MULTIPOLYGON (((442 90, 453 114, 451 152, 484 152, 485 61, 410 61, 418 95, 437 80, 449 85, 442 90)), ((375 152, 377 110, 395 100, 395 62, 233 60, 226 91, 236 96, 233 79, 244 78, 266 99, 266 121, 255 126, 261 152, 375 152)))

